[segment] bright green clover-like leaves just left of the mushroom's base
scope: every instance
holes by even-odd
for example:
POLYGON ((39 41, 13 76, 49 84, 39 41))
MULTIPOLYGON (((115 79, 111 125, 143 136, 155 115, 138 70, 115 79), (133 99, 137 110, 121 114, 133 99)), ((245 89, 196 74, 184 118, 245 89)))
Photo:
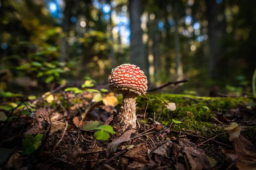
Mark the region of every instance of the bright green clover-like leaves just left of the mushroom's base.
POLYGON ((85 130, 85 131, 97 130, 94 133, 94 137, 97 140, 102 140, 102 141, 109 139, 109 133, 112 133, 112 134, 116 133, 113 131, 113 127, 111 127, 110 125, 100 125, 100 122, 98 121, 85 122, 82 130, 85 130))

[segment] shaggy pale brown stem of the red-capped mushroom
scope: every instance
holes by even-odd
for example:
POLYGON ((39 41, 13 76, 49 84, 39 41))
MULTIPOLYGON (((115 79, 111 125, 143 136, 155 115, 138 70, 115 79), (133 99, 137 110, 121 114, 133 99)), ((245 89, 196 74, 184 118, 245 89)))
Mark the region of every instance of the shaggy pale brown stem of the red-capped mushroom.
POLYGON ((132 128, 136 129, 136 93, 132 91, 124 91, 122 93, 122 107, 121 107, 121 115, 119 117, 122 130, 125 130, 130 125, 132 128))

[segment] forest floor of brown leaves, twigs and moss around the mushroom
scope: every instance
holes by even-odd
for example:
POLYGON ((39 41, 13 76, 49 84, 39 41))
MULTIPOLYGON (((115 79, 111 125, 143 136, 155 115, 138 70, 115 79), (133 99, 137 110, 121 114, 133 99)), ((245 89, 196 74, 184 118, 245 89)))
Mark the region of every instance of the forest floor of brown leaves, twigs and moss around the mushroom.
POLYGON ((121 136, 113 134, 115 127, 103 125, 122 103, 122 96, 106 89, 57 88, 26 99, 1 96, 2 169, 256 167, 256 100, 252 98, 140 96, 137 130, 121 136))

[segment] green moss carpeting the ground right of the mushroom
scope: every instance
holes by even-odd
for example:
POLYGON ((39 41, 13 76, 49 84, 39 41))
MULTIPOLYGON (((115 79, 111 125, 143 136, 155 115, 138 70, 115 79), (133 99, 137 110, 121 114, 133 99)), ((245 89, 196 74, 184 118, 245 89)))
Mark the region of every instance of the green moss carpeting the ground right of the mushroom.
MULTIPOLYGON (((191 95, 180 95, 180 94, 157 94, 148 95, 150 99, 159 98, 166 102, 174 102, 176 104, 176 110, 170 111, 167 108, 163 109, 163 113, 160 117, 160 121, 163 125, 170 125, 172 119, 181 120, 183 123, 174 125, 173 130, 183 131, 183 130, 194 130, 199 132, 201 136, 211 138, 219 133, 223 133, 223 128, 209 122, 213 121, 214 111, 227 111, 230 108, 236 108, 237 105, 250 102, 250 99, 246 98, 230 98, 230 97, 199 97, 191 95)), ((148 99, 140 96, 136 99, 138 109, 137 112, 144 112, 145 107, 148 103, 148 99), (142 110, 141 110, 142 108, 142 110)), ((158 117, 161 108, 164 103, 159 100, 153 100, 148 103, 147 112, 150 117, 153 113, 156 113, 156 118, 158 117)), ((254 134, 256 133, 256 128, 254 127, 254 134)), ((256 142, 256 137, 250 130, 246 130, 244 134, 250 136, 248 139, 256 142)), ((229 142, 228 134, 220 135, 216 138, 221 142, 229 142)))

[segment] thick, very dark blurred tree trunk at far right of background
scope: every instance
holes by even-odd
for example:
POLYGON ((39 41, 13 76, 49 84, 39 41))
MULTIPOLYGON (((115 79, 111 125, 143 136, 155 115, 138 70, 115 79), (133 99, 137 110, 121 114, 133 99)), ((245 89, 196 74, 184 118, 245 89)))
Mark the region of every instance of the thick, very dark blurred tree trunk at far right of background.
POLYGON ((220 75, 219 64, 223 48, 221 40, 226 34, 226 24, 224 19, 224 2, 217 4, 215 0, 206 0, 208 36, 209 36, 209 74, 212 79, 220 75))

